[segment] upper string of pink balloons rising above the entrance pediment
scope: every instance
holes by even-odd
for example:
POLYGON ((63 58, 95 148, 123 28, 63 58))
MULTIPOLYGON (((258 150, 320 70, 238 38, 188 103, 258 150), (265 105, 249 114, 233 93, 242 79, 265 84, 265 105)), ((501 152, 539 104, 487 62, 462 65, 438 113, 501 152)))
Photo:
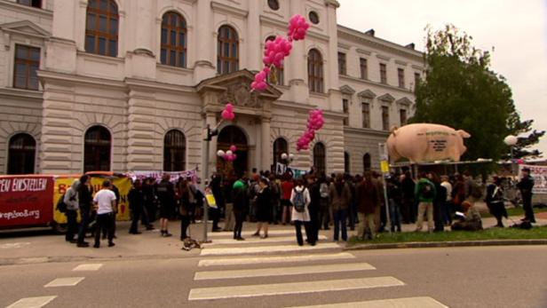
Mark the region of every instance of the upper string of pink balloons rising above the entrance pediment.
POLYGON ((305 38, 310 25, 302 15, 294 15, 289 21, 288 38, 276 36, 275 39, 266 42, 264 51, 264 68, 255 75, 255 80, 250 83, 252 91, 264 91, 268 87, 266 77, 270 74, 272 67, 283 67, 283 59, 289 57, 292 51, 292 41, 299 41, 305 38))

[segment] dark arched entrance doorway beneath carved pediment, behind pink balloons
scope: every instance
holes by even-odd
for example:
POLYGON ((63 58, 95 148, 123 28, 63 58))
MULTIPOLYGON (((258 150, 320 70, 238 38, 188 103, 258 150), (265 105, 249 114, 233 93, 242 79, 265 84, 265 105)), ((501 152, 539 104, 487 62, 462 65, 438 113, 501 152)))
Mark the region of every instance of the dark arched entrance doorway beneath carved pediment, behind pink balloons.
POLYGON ((237 177, 245 175, 249 170, 249 145, 247 137, 242 129, 230 125, 218 133, 217 151, 227 151, 230 146, 236 146, 237 159, 234 162, 226 162, 223 158, 217 157, 217 171, 224 177, 237 177))

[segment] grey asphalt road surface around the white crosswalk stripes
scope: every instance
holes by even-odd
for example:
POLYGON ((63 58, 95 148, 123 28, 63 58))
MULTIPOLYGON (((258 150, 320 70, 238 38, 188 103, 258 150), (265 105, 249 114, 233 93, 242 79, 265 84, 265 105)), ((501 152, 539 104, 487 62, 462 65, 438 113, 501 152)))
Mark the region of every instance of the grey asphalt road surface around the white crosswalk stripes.
MULTIPOLYGON (((289 228, 279 229, 280 232, 289 228)), ((0 307, 16 303, 21 298, 32 296, 56 296, 45 307, 291 307, 315 304, 337 304, 392 298, 426 296, 440 303, 438 307, 547 307, 547 247, 481 247, 443 249, 390 249, 360 250, 345 252, 349 259, 322 259, 326 255, 344 254, 342 248, 332 248, 332 242, 324 240, 314 250, 296 250, 283 253, 245 254, 246 248, 295 247, 294 241, 271 242, 252 240, 236 245, 214 244, 203 249, 242 249, 233 256, 202 256, 199 249, 185 253, 175 244, 175 239, 147 240, 157 236, 148 233, 144 237, 126 238, 122 244, 108 249, 87 249, 88 254, 106 254, 104 259, 91 258, 78 261, 49 262, 25 265, 0 266, 0 307), (157 254, 131 257, 131 249, 124 241, 140 241, 140 246, 169 247, 172 254, 157 254), (158 244, 159 242, 159 244, 158 244), (330 245, 329 245, 330 244, 330 245), (155 246, 157 245, 157 246, 155 246), (175 245, 175 246, 167 246, 175 245), (321 245, 325 249, 321 249, 321 245), (328 248, 327 248, 328 247, 328 248), (120 251, 121 250, 121 251, 120 251), (121 257, 111 257, 111 256, 121 257), (145 257, 147 256, 147 257, 145 257), (314 256, 312 261, 290 262, 294 257, 314 256), (274 263, 249 263, 243 265, 198 266, 203 260, 241 259, 252 257, 260 262, 266 257, 281 257, 274 263), (289 261, 289 262, 288 262, 289 261), (99 264, 91 272, 74 272, 78 265, 99 264), (258 269, 275 271, 286 267, 335 265, 340 269, 347 265, 371 265, 373 270, 350 272, 299 273, 287 275, 287 269, 276 275, 256 277, 249 271, 258 269), (242 272, 240 278, 194 280, 196 272, 242 272), (59 278, 83 277, 75 286, 44 286, 59 278), (275 294, 278 289, 293 283, 296 292, 306 284, 322 280, 331 281, 332 289, 347 288, 345 281, 390 277, 402 283, 392 287, 372 287, 343 290, 321 290, 298 294, 275 294), (218 296, 233 286, 251 286, 260 289, 262 285, 273 284, 274 295, 234 296, 222 299, 192 299, 199 289, 218 287, 218 296), (192 300, 189 300, 192 299, 192 300)), ((221 235, 221 238, 229 234, 221 235)), ((271 234, 270 238, 286 236, 271 234)), ((55 237, 57 241, 60 237, 55 237)), ((27 238, 16 239, 27 241, 27 238)), ((1 242, 1 241, 0 241, 1 242)), ((213 240, 214 243, 214 240, 213 240)), ((5 243, 4 243, 5 244, 5 243)), ((62 245, 69 245, 61 243, 62 245)), ((104 245, 106 246, 106 245, 104 245)), ((32 246, 31 246, 32 247, 32 246)), ((309 246, 305 246, 308 247, 309 246)), ((25 248, 21 248, 25 249, 25 248)), ((72 249, 71 247, 69 249, 72 249)), ((7 251, 8 249, 4 249, 7 251)), ((85 250, 85 249, 83 249, 85 250)), ((0 253, 4 252, 0 250, 0 253)), ((75 251, 82 251, 75 250, 75 251)), ((140 250, 139 250, 140 251, 140 250)), ((140 253, 137 251, 137 253, 140 253)), ((63 254, 67 254, 65 251, 63 254)), ((62 255, 62 254, 59 254, 62 255)), ((62 261, 62 260, 61 260, 62 261)), ((305 271, 304 271, 305 272, 305 271)), ((255 272, 256 273, 256 272, 255 272)), ((259 273, 258 273, 259 275, 259 273)), ((319 288, 319 287, 318 287, 319 288)), ((228 292, 229 293, 229 292, 228 292)), ((237 289, 234 289, 234 294, 237 289)), ((215 295, 215 292, 213 292, 215 295)), ((361 305, 357 305, 361 306, 361 305)), ((364 306, 364 305, 362 305, 364 306)), ((382 304, 380 306, 387 306, 382 304)), ((413 305, 409 307, 420 307, 413 305)))

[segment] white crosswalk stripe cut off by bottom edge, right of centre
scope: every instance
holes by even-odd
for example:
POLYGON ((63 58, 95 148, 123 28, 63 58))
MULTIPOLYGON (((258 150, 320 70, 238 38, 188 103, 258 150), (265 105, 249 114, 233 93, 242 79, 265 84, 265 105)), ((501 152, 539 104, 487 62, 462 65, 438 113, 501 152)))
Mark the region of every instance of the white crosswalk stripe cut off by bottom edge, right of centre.
POLYGON ((448 308, 440 304, 432 297, 406 297, 380 299, 375 301, 341 303, 341 304, 320 304, 315 306, 298 306, 290 308, 448 308))

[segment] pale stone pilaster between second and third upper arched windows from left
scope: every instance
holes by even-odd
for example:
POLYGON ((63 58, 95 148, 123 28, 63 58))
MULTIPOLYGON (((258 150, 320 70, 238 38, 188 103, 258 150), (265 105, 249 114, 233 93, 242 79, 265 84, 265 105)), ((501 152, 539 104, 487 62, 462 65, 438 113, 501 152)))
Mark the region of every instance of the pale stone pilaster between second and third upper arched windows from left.
MULTIPOLYGON (((197 2, 197 21, 195 22, 195 37, 198 39, 194 43, 194 83, 200 83, 216 75, 216 37, 213 36, 216 29, 212 28, 212 11, 210 9, 211 0, 200 0, 197 2)), ((190 66, 189 66, 190 67, 190 66)))

